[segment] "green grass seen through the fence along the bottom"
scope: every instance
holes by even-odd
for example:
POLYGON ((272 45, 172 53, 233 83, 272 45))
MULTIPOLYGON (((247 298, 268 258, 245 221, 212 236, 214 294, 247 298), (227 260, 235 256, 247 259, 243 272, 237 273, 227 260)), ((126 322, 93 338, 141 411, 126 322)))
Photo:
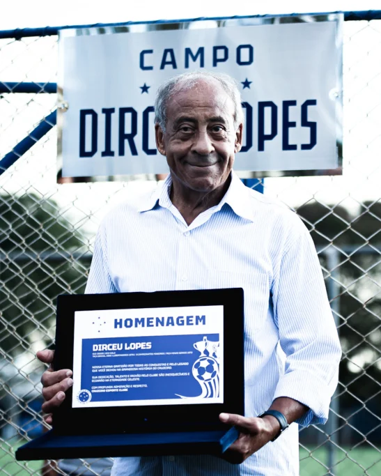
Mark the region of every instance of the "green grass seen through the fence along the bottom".
MULTIPOLYGON (((13 448, 1 443, 0 445, 0 475, 29 476, 39 475, 42 466, 41 461, 15 461, 14 450, 22 445, 22 442, 13 448)), ((381 475, 381 449, 357 448, 348 450, 348 454, 341 450, 336 452, 335 476, 380 476, 381 475), (353 461, 352 461, 353 460, 353 461), (361 466, 360 466, 361 465, 361 466)), ((327 451, 319 448, 310 456, 306 450, 300 450, 300 475, 301 476, 324 476, 327 475, 327 451), (321 463, 319 463, 318 461, 321 463)))

